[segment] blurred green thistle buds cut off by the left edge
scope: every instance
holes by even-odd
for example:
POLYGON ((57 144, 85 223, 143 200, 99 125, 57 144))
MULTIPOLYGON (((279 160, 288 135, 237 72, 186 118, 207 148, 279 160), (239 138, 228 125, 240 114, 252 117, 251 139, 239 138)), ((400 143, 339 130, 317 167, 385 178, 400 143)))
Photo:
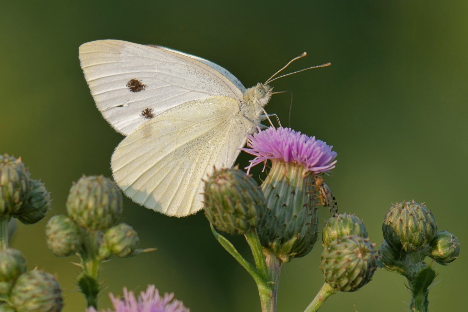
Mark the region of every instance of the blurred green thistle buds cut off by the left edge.
POLYGON ((37 268, 27 271, 21 251, 8 247, 11 218, 29 225, 39 222, 51 207, 44 184, 32 180, 21 157, 0 155, 0 311, 59 312, 62 290, 57 279, 37 268))

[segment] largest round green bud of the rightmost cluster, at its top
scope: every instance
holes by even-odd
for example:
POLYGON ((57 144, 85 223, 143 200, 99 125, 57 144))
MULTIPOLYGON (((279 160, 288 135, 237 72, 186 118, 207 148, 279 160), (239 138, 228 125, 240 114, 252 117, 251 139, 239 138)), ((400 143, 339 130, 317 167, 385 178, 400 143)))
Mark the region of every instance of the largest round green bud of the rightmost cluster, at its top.
POLYGON ((395 203, 385 216, 382 232, 388 246, 409 253, 429 244, 437 233, 437 223, 423 204, 395 203))

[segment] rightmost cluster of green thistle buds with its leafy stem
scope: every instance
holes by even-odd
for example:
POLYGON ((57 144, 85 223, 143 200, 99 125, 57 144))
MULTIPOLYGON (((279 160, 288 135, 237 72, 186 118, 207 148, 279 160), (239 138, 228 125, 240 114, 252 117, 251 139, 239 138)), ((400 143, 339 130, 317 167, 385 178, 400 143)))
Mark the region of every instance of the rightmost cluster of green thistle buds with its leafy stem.
POLYGON ((412 311, 427 311, 429 287, 436 273, 424 259, 428 256, 446 265, 460 254, 460 242, 450 232, 438 232, 432 212, 414 200, 395 203, 387 211, 382 232, 381 267, 407 278, 412 311))

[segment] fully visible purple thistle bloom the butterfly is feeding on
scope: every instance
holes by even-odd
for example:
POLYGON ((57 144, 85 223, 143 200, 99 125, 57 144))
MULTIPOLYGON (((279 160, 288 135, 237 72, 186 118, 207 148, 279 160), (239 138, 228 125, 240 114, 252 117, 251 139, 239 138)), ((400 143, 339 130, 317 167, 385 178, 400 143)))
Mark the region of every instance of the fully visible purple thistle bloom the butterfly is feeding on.
POLYGON ((334 160, 336 152, 331 150, 333 146, 316 140, 315 137, 307 137, 291 128, 270 127, 254 135, 248 135, 247 146, 242 150, 256 156, 253 160, 249 160, 250 165, 246 167, 247 174, 250 168, 262 162, 266 165, 267 160, 295 162, 314 173, 330 171, 336 164, 334 160))

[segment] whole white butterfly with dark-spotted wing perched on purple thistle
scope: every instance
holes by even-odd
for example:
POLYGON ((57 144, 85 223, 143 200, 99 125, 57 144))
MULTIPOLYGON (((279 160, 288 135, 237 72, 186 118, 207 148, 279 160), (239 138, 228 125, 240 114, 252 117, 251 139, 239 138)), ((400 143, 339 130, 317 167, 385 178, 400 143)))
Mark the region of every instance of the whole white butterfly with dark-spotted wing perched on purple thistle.
POLYGON ((133 201, 177 217, 203 208, 202 178, 232 167, 245 135, 268 118, 267 83, 280 72, 246 89, 221 66, 161 46, 97 40, 79 52, 97 108, 126 136, 112 155, 114 180, 133 201))

